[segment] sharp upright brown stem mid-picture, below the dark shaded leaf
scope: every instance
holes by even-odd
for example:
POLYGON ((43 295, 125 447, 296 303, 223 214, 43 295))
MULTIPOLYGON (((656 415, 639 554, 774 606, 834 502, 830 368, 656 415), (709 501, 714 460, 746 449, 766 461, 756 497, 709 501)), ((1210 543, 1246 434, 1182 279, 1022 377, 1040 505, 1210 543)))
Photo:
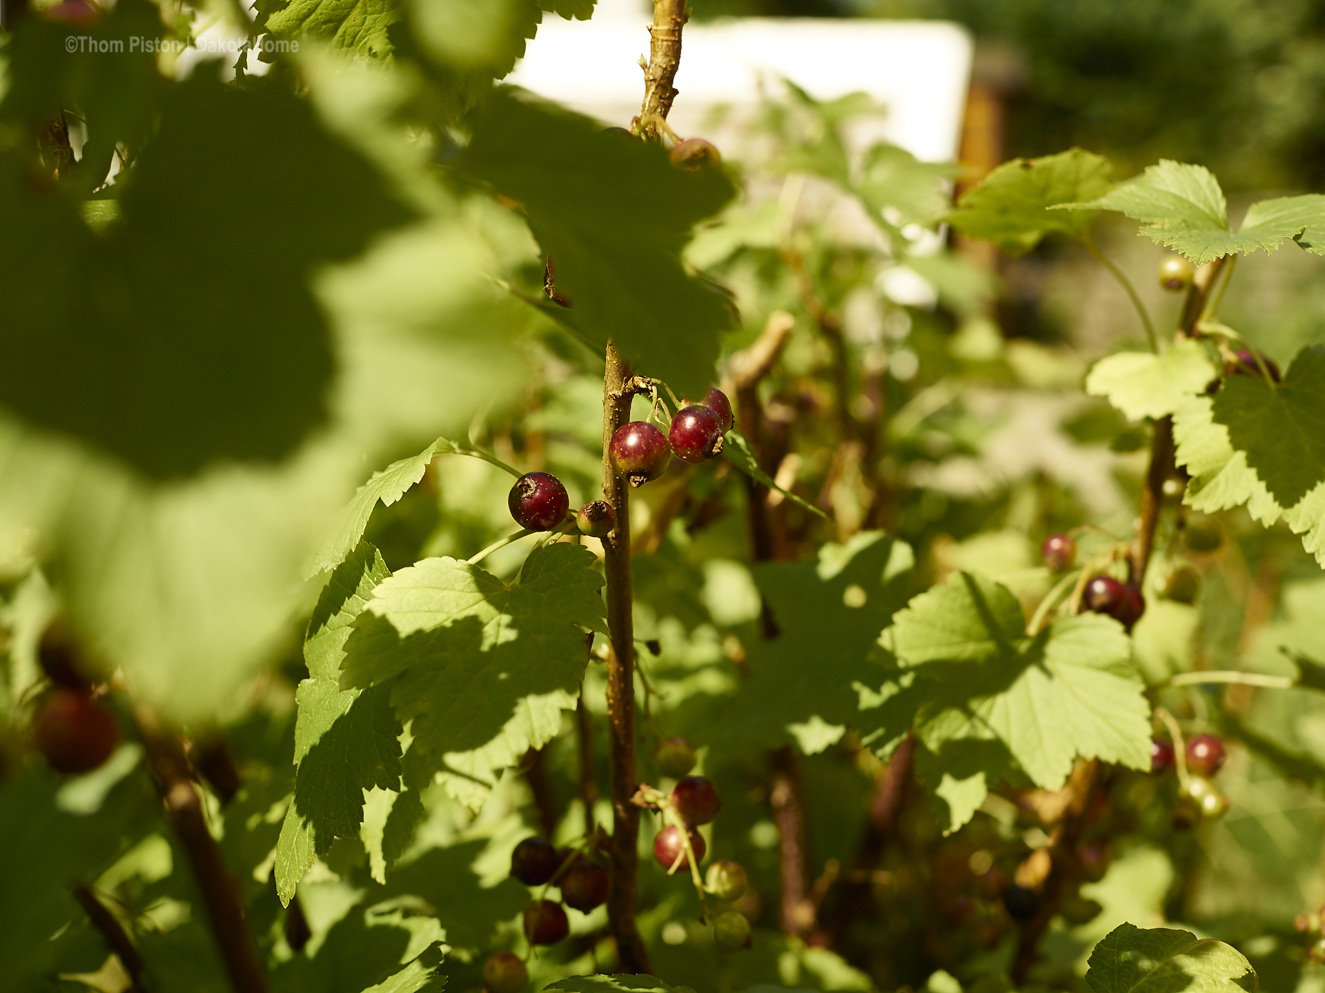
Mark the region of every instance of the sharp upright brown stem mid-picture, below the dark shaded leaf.
POLYGON ((603 375, 603 499, 616 512, 616 528, 603 540, 607 576, 607 727, 612 784, 612 895, 608 925, 616 939, 621 972, 648 972, 649 955, 635 924, 639 890, 640 812, 631 802, 635 773, 635 625, 631 617, 631 503, 627 482, 612 470, 612 434, 629 420, 637 392, 629 363, 607 346, 603 375))

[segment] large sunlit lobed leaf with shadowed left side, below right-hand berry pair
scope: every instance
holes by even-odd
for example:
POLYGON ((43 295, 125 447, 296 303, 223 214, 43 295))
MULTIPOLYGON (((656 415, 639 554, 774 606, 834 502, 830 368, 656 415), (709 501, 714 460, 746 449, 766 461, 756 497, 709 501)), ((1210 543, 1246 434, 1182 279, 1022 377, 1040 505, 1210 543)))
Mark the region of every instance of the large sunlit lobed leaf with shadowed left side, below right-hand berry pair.
MULTIPOLYGON (((880 720, 905 720, 910 708, 939 760, 930 779, 951 779, 954 814, 974 809, 970 780, 982 772, 992 785, 1020 768, 1059 789, 1077 756, 1149 768, 1150 706, 1122 626, 1077 614, 1031 637, 1024 625, 1006 587, 959 573, 912 600, 884 634, 914 679, 894 683, 880 720)), ((886 727, 885 737, 904 730, 886 727)))

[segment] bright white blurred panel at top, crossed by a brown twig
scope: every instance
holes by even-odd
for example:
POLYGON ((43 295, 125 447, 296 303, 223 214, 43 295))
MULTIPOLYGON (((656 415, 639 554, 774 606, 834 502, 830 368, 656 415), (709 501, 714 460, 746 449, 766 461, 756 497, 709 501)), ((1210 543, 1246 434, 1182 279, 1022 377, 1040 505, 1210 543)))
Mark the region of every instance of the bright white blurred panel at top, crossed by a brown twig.
MULTIPOLYGON (((591 21, 545 15, 538 37, 507 77, 608 124, 628 126, 640 113, 652 4, 599 0, 591 21)), ((942 21, 742 19, 689 24, 668 118, 682 136, 721 134, 710 111, 731 109, 741 120, 758 105, 761 85, 776 93, 791 79, 822 101, 863 91, 888 107, 886 118, 853 140, 884 138, 925 162, 957 158, 971 69, 971 38, 942 21)))

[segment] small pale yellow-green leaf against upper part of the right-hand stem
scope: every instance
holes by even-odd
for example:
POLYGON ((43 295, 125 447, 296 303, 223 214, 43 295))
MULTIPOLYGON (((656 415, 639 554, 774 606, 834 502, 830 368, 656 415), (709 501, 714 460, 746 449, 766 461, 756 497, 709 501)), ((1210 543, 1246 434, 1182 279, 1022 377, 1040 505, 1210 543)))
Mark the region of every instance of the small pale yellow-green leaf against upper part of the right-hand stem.
POLYGON ((1163 355, 1118 352, 1101 359, 1085 377, 1085 392, 1102 396, 1129 421, 1166 417, 1183 397, 1203 393, 1219 371, 1199 343, 1183 338, 1163 355))

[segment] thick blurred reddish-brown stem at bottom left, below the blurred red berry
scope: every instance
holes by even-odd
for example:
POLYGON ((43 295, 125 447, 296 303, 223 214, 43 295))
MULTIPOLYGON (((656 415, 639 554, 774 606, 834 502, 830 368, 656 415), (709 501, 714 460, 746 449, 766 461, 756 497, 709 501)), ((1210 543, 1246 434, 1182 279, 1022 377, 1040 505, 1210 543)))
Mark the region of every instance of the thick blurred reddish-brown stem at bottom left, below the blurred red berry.
POLYGON ((236 993, 266 993, 266 978, 244 920, 238 880, 225 867, 220 846, 207 828, 184 747, 148 710, 139 707, 134 718, 152 779, 166 802, 166 817, 184 846, 201 891, 212 937, 231 985, 236 993))

